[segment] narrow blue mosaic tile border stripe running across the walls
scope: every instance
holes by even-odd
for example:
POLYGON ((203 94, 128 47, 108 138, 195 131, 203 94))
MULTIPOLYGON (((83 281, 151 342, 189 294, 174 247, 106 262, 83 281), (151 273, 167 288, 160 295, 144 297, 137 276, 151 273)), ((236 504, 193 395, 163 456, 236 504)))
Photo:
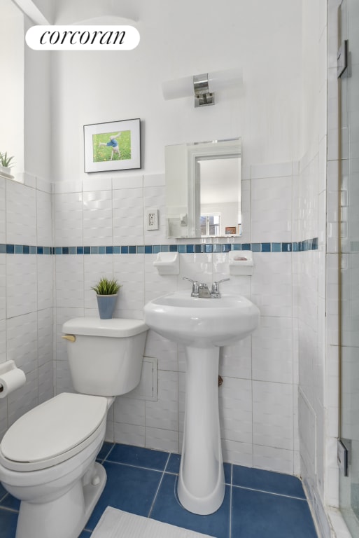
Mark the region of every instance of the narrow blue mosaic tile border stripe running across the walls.
POLYGON ((158 254, 158 252, 179 252, 181 254, 211 254, 230 250, 251 250, 253 252, 302 252, 318 250, 318 237, 300 242, 278 243, 214 243, 214 244, 140 244, 117 245, 113 247, 35 247, 29 244, 0 243, 0 254, 158 254))

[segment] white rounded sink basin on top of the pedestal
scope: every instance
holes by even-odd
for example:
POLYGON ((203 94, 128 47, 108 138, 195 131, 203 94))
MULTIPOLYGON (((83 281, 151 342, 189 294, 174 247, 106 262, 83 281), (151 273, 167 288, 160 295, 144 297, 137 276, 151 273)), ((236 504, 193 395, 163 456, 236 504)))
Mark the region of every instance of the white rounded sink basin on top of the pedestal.
POLYGON ((144 308, 145 323, 164 338, 192 347, 230 345, 258 326, 260 312, 245 297, 191 297, 174 291, 153 299, 144 308))

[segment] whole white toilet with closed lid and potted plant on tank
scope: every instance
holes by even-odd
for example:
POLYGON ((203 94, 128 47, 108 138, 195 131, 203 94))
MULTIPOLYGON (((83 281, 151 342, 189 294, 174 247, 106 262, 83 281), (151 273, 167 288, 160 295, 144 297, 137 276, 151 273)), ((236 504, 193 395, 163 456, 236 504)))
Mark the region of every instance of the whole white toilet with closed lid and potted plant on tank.
POLYGON ((142 321, 80 317, 62 331, 77 393, 31 409, 0 443, 0 482, 21 501, 16 538, 78 538, 106 484, 107 411, 141 377, 142 321))

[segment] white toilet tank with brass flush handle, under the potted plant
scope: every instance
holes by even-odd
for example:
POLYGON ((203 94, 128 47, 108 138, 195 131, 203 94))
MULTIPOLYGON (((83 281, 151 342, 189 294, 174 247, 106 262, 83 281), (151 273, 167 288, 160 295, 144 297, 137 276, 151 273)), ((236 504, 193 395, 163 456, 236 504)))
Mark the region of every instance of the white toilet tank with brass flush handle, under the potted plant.
POLYGON ((65 322, 62 338, 67 338, 73 388, 96 396, 134 389, 141 377, 147 331, 138 319, 77 317, 65 322))

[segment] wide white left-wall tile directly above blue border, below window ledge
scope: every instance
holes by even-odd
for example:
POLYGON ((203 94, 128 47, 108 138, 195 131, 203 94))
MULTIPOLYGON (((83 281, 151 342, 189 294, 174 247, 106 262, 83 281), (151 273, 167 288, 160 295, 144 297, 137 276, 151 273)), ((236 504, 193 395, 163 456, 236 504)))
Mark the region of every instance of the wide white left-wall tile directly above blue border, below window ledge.
POLYGON ((6 183, 6 242, 36 244, 36 191, 16 181, 6 183))

